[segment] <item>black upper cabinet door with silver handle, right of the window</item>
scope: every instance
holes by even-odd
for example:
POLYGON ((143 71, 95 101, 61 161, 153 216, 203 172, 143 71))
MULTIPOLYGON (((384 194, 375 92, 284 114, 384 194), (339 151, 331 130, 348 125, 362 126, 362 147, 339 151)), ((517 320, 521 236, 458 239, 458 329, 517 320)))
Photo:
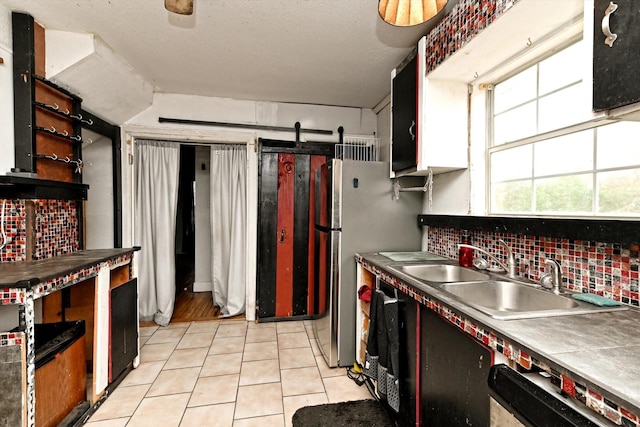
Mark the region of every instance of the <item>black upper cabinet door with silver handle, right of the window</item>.
POLYGON ((609 110, 640 101, 640 3, 616 0, 609 27, 617 34, 612 46, 605 44, 603 18, 609 0, 594 2, 593 110, 609 110))

